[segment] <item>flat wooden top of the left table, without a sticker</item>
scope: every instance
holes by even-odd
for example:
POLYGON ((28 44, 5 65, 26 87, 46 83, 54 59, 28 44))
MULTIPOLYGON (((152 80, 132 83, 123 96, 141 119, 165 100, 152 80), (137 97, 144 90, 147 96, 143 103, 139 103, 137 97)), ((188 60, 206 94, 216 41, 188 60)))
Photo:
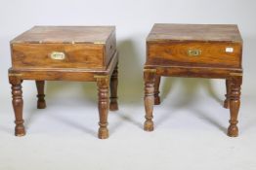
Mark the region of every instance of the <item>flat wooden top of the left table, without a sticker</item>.
POLYGON ((106 44, 114 31, 114 26, 34 26, 12 40, 11 44, 106 44))

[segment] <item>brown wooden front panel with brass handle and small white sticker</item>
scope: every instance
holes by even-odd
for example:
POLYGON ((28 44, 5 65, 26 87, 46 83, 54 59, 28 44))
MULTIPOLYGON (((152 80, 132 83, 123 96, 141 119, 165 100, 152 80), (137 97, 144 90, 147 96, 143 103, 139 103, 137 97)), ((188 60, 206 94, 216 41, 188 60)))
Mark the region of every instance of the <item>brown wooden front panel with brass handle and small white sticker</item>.
POLYGON ((233 43, 148 43, 147 64, 241 67, 241 45, 233 43))

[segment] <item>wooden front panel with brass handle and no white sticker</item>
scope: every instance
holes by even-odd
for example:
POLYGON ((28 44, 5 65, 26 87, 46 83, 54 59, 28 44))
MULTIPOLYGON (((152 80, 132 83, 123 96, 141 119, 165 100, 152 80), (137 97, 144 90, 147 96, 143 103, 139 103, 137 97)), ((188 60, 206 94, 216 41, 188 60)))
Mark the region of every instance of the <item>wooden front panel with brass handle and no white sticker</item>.
POLYGON ((103 45, 13 44, 13 68, 105 68, 103 45))

